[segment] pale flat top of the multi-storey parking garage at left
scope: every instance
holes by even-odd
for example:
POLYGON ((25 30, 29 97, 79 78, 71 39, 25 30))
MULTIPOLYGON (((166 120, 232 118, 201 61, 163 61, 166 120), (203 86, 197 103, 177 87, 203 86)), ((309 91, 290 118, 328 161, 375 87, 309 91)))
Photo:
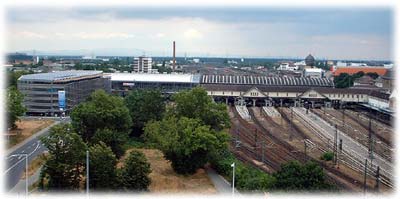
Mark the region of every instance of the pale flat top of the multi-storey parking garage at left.
POLYGON ((81 78, 85 76, 100 75, 102 73, 103 73, 102 71, 93 71, 93 70, 66 70, 66 71, 54 71, 51 73, 36 73, 36 74, 22 75, 18 80, 54 82, 60 80, 81 78))

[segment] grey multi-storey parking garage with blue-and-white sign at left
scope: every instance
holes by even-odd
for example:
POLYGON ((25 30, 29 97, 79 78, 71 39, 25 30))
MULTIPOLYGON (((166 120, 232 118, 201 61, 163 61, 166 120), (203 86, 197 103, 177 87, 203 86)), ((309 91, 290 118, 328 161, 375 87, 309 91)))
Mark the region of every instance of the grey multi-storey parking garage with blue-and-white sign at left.
POLYGON ((51 116, 68 114, 97 89, 111 90, 110 79, 103 72, 89 70, 23 75, 17 86, 25 96, 28 115, 51 116))

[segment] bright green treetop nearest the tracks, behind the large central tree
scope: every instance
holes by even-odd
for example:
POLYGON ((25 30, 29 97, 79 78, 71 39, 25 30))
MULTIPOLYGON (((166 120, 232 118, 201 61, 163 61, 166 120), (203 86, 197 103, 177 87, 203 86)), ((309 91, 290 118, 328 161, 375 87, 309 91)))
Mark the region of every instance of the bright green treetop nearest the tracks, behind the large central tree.
POLYGON ((226 105, 214 103, 204 88, 179 92, 173 96, 173 100, 175 106, 172 111, 177 117, 200 119, 217 131, 230 127, 226 105))

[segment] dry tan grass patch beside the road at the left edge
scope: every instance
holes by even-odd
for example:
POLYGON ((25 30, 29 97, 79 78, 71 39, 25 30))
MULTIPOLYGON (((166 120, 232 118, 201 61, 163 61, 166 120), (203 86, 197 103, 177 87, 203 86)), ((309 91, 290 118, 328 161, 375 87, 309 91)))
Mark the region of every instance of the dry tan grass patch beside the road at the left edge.
POLYGON ((7 142, 7 149, 21 143, 33 134, 53 124, 53 120, 21 120, 17 121, 17 128, 7 132, 9 138, 7 142))

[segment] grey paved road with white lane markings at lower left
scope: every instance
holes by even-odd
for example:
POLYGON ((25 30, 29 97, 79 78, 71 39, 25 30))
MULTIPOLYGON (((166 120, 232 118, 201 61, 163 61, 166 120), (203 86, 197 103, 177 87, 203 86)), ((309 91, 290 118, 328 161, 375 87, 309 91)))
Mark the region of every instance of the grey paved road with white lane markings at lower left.
POLYGON ((42 154, 47 149, 40 142, 41 136, 46 136, 49 133, 49 129, 60 122, 55 122, 47 128, 37 132, 25 140, 22 144, 13 147, 7 151, 6 157, 6 170, 3 173, 6 182, 6 190, 11 190, 20 180, 22 173, 25 171, 25 156, 12 156, 15 154, 28 154, 28 163, 31 162, 35 157, 42 154))

